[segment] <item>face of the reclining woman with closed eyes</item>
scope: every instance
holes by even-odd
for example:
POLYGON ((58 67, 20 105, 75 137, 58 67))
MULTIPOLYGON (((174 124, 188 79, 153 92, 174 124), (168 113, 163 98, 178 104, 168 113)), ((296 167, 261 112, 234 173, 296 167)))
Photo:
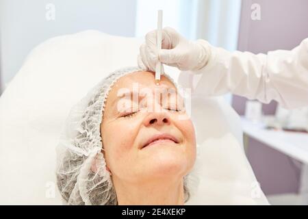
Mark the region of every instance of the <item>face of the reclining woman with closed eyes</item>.
POLYGON ((105 160, 113 179, 130 183, 179 179, 192 169, 194 127, 187 116, 183 119, 181 97, 170 90, 175 91, 175 86, 167 77, 162 75, 157 86, 154 73, 141 71, 114 84, 101 123, 105 160), (166 91, 167 95, 157 95, 166 91))

